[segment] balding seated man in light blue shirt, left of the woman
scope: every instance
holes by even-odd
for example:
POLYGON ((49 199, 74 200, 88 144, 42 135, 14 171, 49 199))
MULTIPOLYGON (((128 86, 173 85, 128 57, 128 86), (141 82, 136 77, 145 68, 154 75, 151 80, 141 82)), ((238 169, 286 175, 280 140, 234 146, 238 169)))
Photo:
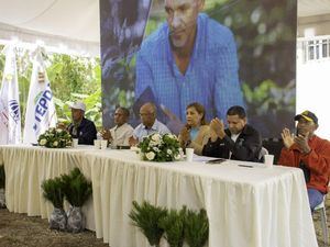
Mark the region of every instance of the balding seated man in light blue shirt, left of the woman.
POLYGON ((130 138, 131 146, 136 145, 143 137, 153 133, 161 135, 170 133, 166 125, 156 120, 155 104, 151 102, 143 104, 140 109, 140 117, 142 123, 134 128, 133 136, 130 138))

